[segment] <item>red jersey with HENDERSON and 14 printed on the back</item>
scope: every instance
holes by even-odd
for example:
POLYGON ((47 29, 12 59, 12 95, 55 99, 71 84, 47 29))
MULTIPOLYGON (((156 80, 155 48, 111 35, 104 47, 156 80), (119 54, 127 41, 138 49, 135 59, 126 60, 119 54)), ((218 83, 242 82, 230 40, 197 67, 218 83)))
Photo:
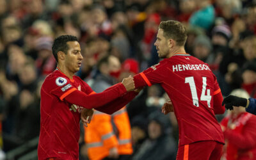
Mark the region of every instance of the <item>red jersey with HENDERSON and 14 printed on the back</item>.
POLYGON ((224 143, 214 116, 214 109, 225 111, 221 102, 214 104, 215 97, 223 98, 206 63, 189 54, 175 54, 134 76, 134 83, 136 88, 156 83, 164 88, 179 124, 179 146, 205 140, 224 143))

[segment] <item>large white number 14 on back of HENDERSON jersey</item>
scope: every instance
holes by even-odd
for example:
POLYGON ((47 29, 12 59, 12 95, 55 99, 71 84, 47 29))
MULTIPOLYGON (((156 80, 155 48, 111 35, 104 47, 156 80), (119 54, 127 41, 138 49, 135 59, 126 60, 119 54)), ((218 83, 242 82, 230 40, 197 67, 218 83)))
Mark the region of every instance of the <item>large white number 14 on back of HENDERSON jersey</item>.
MULTIPOLYGON (((192 99, 193 99, 193 105, 196 107, 199 107, 194 77, 186 77, 185 83, 189 83, 190 91, 191 91, 191 95, 192 95, 192 99)), ((208 107, 211 108, 211 99, 212 99, 212 96, 210 95, 211 91, 210 91, 210 89, 206 90, 206 86, 207 86, 206 77, 203 77, 202 94, 201 94, 200 100, 207 101, 208 107)))

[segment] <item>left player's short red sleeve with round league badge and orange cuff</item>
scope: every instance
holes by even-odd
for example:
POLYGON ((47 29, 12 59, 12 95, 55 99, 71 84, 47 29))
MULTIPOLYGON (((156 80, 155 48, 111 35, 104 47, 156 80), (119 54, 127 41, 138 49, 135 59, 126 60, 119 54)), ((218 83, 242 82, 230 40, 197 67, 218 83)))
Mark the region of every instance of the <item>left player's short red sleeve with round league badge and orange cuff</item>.
POLYGON ((77 90, 67 77, 53 77, 47 81, 49 93, 63 100, 67 95, 77 90))

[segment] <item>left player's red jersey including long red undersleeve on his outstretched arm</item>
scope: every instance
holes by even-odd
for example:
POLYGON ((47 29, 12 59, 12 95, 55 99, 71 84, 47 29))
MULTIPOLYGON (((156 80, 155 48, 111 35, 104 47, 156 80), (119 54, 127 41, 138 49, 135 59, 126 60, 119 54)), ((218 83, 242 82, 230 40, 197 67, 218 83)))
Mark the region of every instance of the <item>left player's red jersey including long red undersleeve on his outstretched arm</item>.
POLYGON ((103 93, 89 95, 92 92, 92 88, 79 77, 69 79, 59 70, 45 78, 41 89, 39 160, 49 157, 78 159, 80 111, 83 109, 79 106, 102 106, 123 95, 126 90, 124 85, 117 84, 103 93), (70 109, 72 104, 79 105, 77 111, 70 109))

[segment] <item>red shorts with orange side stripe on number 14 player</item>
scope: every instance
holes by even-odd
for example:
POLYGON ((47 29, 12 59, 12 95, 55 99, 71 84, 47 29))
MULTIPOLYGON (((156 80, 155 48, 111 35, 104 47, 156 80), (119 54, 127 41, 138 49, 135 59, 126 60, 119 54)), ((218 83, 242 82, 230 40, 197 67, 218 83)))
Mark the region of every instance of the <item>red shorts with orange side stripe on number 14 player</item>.
POLYGON ((198 141, 180 146, 176 160, 217 160, 222 154, 223 144, 217 141, 198 141))

